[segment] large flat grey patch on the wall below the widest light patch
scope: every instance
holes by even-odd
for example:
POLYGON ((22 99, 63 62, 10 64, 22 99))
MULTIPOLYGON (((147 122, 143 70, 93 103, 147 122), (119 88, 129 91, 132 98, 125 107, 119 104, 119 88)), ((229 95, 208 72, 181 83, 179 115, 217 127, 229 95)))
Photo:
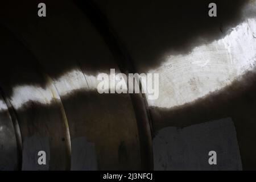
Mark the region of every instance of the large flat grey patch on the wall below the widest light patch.
POLYGON ((241 170, 236 130, 230 118, 178 129, 166 127, 153 140, 155 170, 241 170), (217 165, 209 165, 209 151, 217 165))

